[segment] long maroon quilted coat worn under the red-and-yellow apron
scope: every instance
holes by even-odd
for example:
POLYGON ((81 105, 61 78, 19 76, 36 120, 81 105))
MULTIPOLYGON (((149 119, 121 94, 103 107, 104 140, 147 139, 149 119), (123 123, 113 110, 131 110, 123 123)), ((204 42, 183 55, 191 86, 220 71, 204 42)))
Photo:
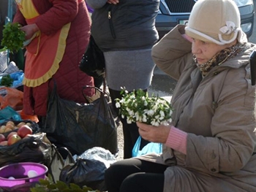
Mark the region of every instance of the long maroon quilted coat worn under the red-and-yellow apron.
MULTIPOLYGON (((56 81, 57 91, 61 98, 79 103, 86 102, 82 88, 85 85, 94 85, 94 82, 92 77, 81 72, 78 67, 89 42, 91 27, 85 2, 81 0, 31 1, 39 12, 35 23, 41 33, 46 35, 55 33, 59 28, 71 22, 63 59, 52 78, 56 81), (80 2, 78 3, 78 1, 80 2)), ((26 20, 19 10, 15 14, 13 22, 18 22, 22 26, 26 25, 26 20)), ((49 85, 52 88, 52 83, 49 84, 49 80, 35 88, 24 85, 23 111, 26 114, 46 115, 49 85)), ((85 93, 91 96, 94 90, 87 89, 85 93)))

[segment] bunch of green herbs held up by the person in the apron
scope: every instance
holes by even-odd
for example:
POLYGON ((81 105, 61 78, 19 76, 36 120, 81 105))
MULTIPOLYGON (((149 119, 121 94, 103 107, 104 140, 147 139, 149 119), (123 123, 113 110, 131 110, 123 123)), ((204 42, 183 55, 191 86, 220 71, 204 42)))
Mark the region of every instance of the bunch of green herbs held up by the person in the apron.
POLYGON ((10 52, 18 52, 23 47, 23 42, 26 40, 26 34, 20 30, 19 23, 7 23, 4 25, 3 38, 1 40, 0 51, 10 50, 10 52))

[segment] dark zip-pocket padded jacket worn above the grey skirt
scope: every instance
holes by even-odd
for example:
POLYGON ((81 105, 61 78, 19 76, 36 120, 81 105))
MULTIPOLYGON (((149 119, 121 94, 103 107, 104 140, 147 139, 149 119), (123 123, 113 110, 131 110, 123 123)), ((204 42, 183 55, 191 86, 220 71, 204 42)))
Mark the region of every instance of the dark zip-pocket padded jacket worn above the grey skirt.
POLYGON ((151 49, 157 42, 159 0, 121 0, 100 8, 94 0, 86 2, 94 8, 91 34, 103 51, 151 49))

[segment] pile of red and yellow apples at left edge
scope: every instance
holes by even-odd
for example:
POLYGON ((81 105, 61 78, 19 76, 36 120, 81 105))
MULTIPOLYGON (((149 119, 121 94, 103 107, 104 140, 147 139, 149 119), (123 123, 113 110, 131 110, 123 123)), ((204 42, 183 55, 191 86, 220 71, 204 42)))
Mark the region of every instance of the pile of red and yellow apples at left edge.
POLYGON ((32 133, 31 123, 20 122, 15 125, 10 120, 6 125, 0 127, 0 145, 13 145, 21 139, 31 136, 32 133))

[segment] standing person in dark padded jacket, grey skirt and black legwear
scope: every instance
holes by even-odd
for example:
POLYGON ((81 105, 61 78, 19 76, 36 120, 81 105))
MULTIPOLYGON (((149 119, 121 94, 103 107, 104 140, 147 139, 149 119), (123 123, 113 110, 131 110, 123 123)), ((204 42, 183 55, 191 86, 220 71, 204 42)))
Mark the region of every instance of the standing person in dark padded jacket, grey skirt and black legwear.
MULTIPOLYGON (((86 0, 94 9, 91 34, 104 52, 106 80, 113 108, 121 98, 121 87, 127 91, 143 89, 151 84, 154 61, 151 48, 158 40, 155 18, 159 0, 86 0)), ((138 139, 136 123, 121 118, 124 132, 124 158, 132 157, 138 139)), ((142 139, 141 147, 148 141, 142 139)))

